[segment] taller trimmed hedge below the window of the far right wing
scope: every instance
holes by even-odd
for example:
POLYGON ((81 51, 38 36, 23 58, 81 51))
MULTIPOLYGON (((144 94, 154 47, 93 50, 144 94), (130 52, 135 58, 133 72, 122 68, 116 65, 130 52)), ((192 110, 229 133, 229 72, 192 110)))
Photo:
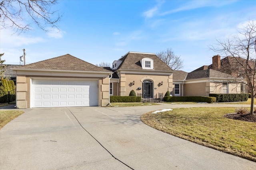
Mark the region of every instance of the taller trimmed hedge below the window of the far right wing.
POLYGON ((209 96, 216 97, 216 102, 245 102, 248 100, 249 94, 209 94, 209 96))

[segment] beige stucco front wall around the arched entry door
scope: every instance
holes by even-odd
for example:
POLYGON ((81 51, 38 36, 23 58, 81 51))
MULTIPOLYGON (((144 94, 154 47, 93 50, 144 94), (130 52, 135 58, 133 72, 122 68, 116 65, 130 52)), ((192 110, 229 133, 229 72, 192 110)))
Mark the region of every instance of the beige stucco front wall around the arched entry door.
POLYGON ((165 94, 167 90, 172 92, 172 75, 145 75, 145 74, 121 74, 120 75, 120 96, 129 96, 130 91, 134 90, 136 95, 142 93, 142 81, 152 80, 153 82, 153 95, 158 93, 165 94), (132 84, 134 81, 134 85, 132 84), (161 82, 163 82, 162 85, 161 82), (141 90, 138 89, 141 88, 141 90))

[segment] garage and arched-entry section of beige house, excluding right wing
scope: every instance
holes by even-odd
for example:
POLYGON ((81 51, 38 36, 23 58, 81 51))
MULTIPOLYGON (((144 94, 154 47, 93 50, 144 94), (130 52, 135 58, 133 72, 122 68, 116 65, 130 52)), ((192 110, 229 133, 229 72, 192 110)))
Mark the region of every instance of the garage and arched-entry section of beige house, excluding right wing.
POLYGON ((112 68, 70 54, 13 68, 18 108, 106 106, 110 95, 145 98, 172 91, 173 70, 153 53, 128 52, 112 68))

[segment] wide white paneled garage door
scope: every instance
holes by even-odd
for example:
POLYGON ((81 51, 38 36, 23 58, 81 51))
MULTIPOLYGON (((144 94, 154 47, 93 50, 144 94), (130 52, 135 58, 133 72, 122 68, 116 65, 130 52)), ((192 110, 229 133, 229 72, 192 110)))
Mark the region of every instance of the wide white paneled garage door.
POLYGON ((32 107, 98 106, 97 80, 32 79, 32 107))

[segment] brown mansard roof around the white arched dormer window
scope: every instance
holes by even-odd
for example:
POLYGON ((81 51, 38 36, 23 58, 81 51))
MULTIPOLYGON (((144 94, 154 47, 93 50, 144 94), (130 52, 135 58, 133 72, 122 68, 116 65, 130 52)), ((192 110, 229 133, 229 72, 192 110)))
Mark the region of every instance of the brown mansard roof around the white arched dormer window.
POLYGON ((142 60, 143 58, 152 59, 154 61, 154 70, 156 71, 170 71, 170 72, 173 71, 155 54, 135 53, 135 52, 129 52, 124 57, 119 59, 120 61, 123 61, 123 62, 120 64, 118 69, 143 70, 140 64, 140 60, 142 60))

